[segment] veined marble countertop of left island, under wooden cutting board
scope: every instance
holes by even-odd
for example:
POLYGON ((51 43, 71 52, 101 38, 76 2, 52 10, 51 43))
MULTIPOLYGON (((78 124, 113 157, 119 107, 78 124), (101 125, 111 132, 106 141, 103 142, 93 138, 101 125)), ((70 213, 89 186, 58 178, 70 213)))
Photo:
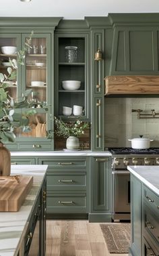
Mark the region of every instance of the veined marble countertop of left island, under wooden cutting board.
POLYGON ((46 169, 47 165, 11 166, 11 175, 33 176, 33 186, 18 212, 0 212, 0 256, 18 255, 46 169))

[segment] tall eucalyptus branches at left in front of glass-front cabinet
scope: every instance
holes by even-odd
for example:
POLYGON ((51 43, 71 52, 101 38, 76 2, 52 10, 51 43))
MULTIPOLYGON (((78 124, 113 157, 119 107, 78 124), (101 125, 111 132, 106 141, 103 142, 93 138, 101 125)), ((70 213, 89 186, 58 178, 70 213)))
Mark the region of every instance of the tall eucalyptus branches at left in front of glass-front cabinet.
POLYGON ((30 37, 26 39, 23 49, 18 51, 18 60, 11 60, 9 58, 11 67, 7 68, 8 74, 0 73, 0 141, 3 143, 15 141, 14 127, 20 127, 25 132, 30 131, 30 127, 28 126, 29 116, 36 113, 32 109, 26 112, 22 110, 22 108, 29 107, 27 99, 32 89, 22 93, 22 98, 17 99, 16 102, 14 102, 7 91, 7 87, 9 86, 7 81, 13 81, 16 78, 18 64, 24 65, 26 51, 28 51, 28 48, 31 48, 33 33, 32 31, 30 37), (15 108, 21 109, 21 111, 15 111, 15 108))

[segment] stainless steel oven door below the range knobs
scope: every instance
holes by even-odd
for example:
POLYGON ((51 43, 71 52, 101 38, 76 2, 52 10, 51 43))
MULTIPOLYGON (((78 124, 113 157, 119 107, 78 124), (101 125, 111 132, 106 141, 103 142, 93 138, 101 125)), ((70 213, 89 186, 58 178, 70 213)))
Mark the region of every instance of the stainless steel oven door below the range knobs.
POLYGON ((130 219, 130 173, 113 171, 113 214, 130 219))

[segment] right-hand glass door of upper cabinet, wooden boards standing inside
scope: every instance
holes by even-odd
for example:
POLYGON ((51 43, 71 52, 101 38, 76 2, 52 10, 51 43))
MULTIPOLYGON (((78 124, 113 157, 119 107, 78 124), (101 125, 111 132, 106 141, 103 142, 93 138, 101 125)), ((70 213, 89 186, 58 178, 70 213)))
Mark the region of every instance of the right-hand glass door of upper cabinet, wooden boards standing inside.
MULTIPOLYGON (((22 35, 22 45, 28 35, 22 35)), ((28 97, 30 110, 36 114, 30 115, 29 133, 22 133, 21 137, 34 137, 35 142, 49 142, 47 131, 51 129, 51 37, 34 33, 31 47, 26 53, 26 62, 22 66, 22 93, 31 89, 28 97), (47 107, 47 110, 46 110, 47 107)), ((41 148, 40 144, 33 147, 41 148)))

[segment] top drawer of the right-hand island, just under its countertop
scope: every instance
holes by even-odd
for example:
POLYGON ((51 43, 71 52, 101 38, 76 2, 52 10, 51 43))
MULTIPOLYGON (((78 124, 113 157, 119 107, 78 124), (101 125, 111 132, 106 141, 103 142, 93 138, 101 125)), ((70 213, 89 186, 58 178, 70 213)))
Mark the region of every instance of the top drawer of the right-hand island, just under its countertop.
POLYGON ((159 214, 159 197, 152 192, 149 188, 146 186, 143 186, 144 188, 144 202, 156 215, 159 214))

